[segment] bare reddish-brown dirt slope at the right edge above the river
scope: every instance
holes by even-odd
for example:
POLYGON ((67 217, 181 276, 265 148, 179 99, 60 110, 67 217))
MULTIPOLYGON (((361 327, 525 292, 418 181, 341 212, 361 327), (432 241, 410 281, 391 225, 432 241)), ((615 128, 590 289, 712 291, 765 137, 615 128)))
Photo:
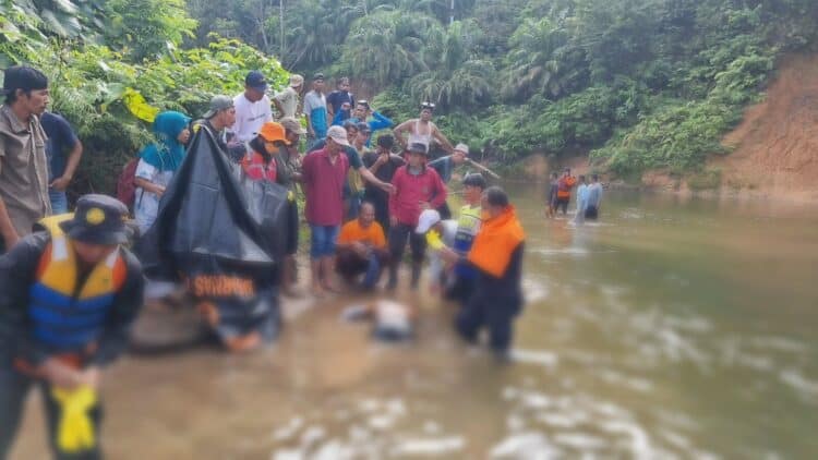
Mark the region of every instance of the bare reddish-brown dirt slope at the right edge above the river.
POLYGON ((722 184, 782 198, 818 201, 818 56, 785 59, 763 102, 750 107, 713 158, 722 184))

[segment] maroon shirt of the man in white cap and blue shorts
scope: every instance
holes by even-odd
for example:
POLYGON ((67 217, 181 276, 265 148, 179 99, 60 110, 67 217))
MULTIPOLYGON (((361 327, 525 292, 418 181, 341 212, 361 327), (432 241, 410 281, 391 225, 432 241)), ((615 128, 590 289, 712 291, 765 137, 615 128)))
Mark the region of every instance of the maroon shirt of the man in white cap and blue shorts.
POLYGON ((338 153, 335 164, 325 148, 304 158, 302 173, 306 194, 306 221, 314 226, 340 226, 344 221, 344 183, 349 159, 338 153))

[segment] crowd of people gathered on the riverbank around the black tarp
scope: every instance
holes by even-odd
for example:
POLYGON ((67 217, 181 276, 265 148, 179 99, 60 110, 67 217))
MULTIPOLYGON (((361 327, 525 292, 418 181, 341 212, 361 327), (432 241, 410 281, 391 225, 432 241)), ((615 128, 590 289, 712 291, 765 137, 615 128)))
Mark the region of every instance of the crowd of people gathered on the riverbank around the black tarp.
MULTIPOLYGON (((301 294, 294 288, 294 257, 303 211, 313 295, 377 289, 385 269, 383 288, 395 290, 409 244, 410 289, 419 289, 429 255, 430 290, 459 304, 455 329, 477 341, 485 328, 492 350, 507 355, 522 305, 525 242, 507 194, 489 186, 479 172, 468 173, 465 204, 453 219, 447 183, 457 177, 456 167, 470 162, 469 148, 453 146, 434 124, 434 105, 421 104, 417 119, 394 126, 369 101, 354 98, 348 78, 337 82, 337 89, 325 95, 325 77, 315 74, 304 94, 304 78, 291 75, 289 85, 273 94, 264 75, 253 71, 241 94, 213 97, 201 119, 161 112, 153 123, 155 142, 120 178, 118 185, 132 187, 132 195, 85 195, 68 214, 64 192, 81 161, 82 143, 68 121, 47 111, 45 74, 28 66, 4 71, 0 459, 15 437, 33 385, 43 391, 55 457, 99 458, 100 370, 125 350, 151 283, 127 249, 134 235, 125 219, 133 215, 139 234, 156 225, 163 196, 196 136, 205 134, 216 140, 238 174, 289 191, 281 292, 301 294), (446 155, 430 161, 436 150, 446 155), (76 417, 86 422, 72 425, 76 417)), ((591 203, 590 194, 586 202, 591 203)))

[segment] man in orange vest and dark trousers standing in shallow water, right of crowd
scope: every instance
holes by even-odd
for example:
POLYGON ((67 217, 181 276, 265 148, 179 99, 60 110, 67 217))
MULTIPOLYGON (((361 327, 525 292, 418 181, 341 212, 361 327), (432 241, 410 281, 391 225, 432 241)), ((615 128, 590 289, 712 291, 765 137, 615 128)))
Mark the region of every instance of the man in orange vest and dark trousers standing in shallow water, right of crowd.
POLYGON ((522 307, 522 252, 525 232, 508 195, 491 186, 482 196, 483 223, 468 255, 444 249, 448 263, 474 267, 474 292, 457 315, 455 327, 469 342, 476 342, 481 328, 489 329, 490 344, 498 358, 508 356, 513 320, 522 307))

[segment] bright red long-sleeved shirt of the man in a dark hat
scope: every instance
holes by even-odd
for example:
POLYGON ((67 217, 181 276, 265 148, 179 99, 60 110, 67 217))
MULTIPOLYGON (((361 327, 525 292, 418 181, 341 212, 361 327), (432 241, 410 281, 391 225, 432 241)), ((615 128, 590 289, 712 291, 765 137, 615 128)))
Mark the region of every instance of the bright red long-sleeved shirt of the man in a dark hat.
POLYGON ((417 227, 420 202, 429 202, 437 209, 446 203, 447 192, 434 169, 424 166, 423 172, 412 175, 407 168, 409 165, 401 166, 392 178, 395 193, 389 195, 389 216, 396 217, 400 223, 417 227))

